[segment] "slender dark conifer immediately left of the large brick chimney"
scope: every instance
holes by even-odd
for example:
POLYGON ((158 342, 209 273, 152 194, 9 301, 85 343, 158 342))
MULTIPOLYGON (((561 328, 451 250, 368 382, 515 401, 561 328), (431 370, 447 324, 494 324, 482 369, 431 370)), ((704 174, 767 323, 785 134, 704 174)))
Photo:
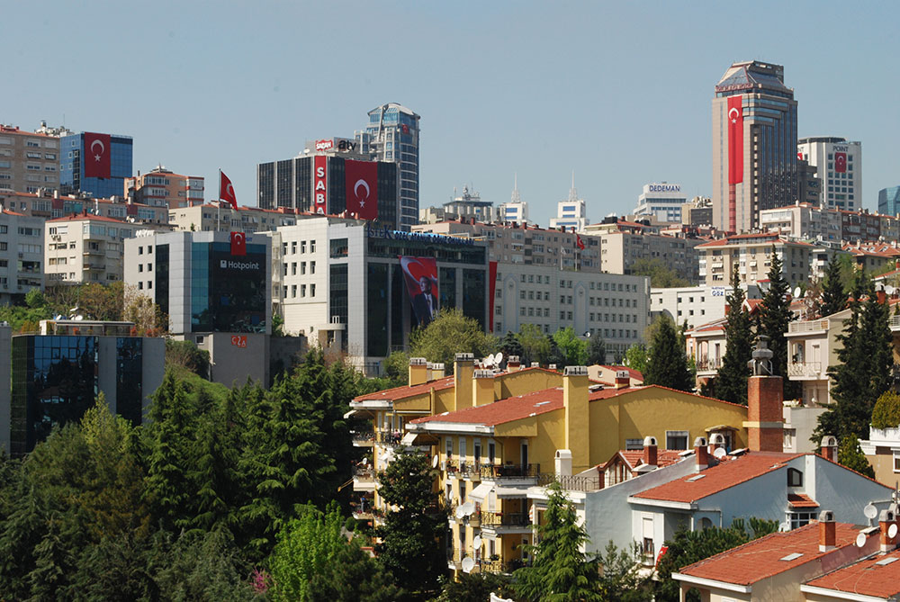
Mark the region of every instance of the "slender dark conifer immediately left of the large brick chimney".
POLYGON ((747 403, 748 362, 752 360, 753 332, 750 313, 743 307, 744 292, 734 265, 732 292, 728 296, 728 318, 725 326, 725 357, 716 376, 716 397, 732 403, 747 403))

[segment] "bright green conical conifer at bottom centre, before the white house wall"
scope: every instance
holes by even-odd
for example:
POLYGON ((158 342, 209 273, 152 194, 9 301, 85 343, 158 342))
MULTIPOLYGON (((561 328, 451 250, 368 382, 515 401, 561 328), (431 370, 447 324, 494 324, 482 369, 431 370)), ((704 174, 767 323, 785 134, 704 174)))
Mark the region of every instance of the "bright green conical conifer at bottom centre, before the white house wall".
POLYGON ((513 588, 520 598, 533 602, 599 601, 598 562, 581 553, 588 534, 577 525, 575 507, 559 483, 547 490, 545 523, 537 527, 538 544, 529 547, 534 562, 515 571, 513 588))

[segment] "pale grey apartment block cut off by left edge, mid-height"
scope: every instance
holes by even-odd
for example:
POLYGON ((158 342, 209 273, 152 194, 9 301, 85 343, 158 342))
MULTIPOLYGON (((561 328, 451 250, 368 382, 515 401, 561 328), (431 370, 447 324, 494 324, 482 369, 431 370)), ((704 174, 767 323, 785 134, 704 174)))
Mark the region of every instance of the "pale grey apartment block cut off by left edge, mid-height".
POLYGON ((44 220, 0 209, 0 302, 44 285, 44 220))

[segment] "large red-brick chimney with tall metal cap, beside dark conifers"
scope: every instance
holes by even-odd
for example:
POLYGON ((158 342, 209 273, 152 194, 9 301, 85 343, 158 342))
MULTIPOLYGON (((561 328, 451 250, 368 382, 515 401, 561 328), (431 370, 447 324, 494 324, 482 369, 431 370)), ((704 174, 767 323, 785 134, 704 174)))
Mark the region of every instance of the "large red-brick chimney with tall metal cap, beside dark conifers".
POLYGON ((747 381, 748 446, 752 452, 784 451, 783 383, 770 376, 772 352, 767 337, 761 336, 753 351, 753 375, 747 381))

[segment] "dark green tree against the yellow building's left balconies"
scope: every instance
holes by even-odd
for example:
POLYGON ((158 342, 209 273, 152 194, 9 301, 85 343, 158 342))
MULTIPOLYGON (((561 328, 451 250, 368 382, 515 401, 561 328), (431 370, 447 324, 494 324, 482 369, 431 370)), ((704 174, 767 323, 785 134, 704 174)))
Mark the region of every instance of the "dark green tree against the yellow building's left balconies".
POLYGON ((389 512, 376 534, 375 552, 401 588, 429 594, 446 571, 443 541, 446 514, 435 511, 431 463, 419 451, 402 451, 378 475, 379 495, 397 508, 389 512))

